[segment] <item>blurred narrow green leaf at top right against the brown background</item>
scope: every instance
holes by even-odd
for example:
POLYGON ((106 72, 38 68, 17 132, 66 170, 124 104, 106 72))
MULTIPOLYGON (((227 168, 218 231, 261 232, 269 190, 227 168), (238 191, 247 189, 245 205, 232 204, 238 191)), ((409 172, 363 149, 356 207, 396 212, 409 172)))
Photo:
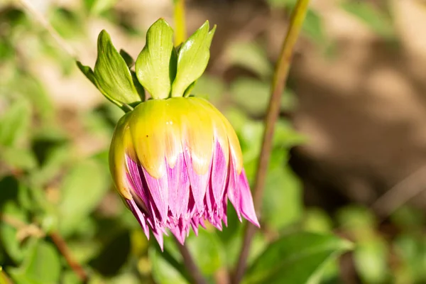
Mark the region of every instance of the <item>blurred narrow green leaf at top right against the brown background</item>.
POLYGON ((366 23, 371 30, 383 38, 394 38, 393 23, 382 11, 367 1, 344 1, 342 8, 366 23))

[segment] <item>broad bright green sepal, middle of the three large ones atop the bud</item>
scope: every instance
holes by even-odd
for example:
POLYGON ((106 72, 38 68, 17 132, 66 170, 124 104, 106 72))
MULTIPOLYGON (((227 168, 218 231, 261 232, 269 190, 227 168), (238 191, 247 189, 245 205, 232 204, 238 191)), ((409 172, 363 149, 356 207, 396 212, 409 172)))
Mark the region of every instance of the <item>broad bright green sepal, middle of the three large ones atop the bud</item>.
POLYGON ((136 59, 136 76, 155 99, 165 99, 176 75, 173 29, 160 18, 148 29, 146 45, 136 59))

